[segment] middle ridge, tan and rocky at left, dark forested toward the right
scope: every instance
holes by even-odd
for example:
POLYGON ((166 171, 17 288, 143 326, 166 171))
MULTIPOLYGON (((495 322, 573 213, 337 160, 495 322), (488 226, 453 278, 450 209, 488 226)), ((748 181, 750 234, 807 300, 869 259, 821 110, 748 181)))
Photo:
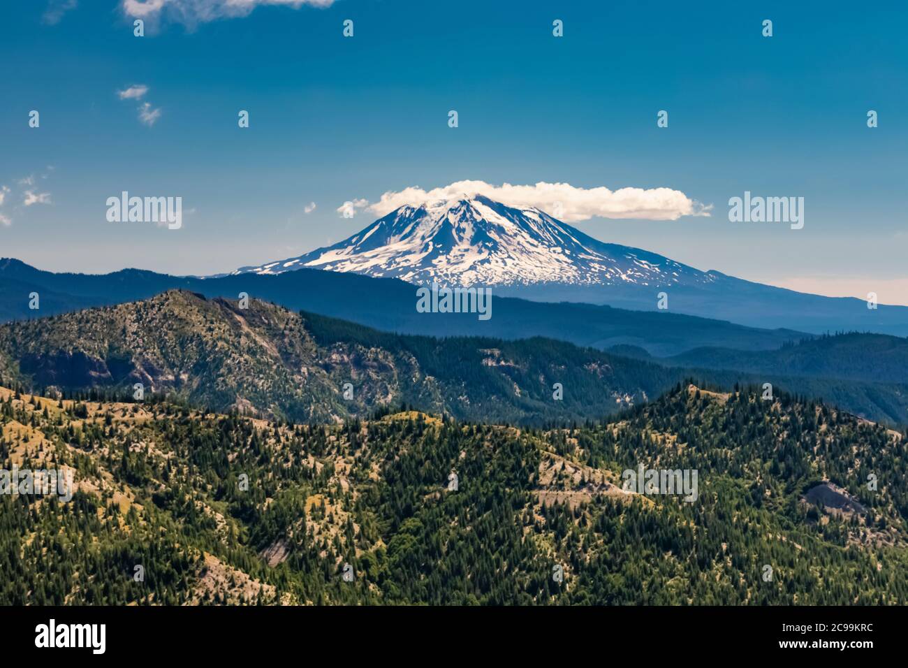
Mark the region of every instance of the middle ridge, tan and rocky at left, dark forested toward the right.
POLYGON ((35 390, 123 396, 141 383, 195 406, 294 422, 395 404, 475 422, 583 422, 644 403, 692 373, 725 386, 769 382, 870 420, 908 423, 908 387, 899 384, 692 372, 542 337, 390 334, 183 290, 0 325, 0 375, 35 390))

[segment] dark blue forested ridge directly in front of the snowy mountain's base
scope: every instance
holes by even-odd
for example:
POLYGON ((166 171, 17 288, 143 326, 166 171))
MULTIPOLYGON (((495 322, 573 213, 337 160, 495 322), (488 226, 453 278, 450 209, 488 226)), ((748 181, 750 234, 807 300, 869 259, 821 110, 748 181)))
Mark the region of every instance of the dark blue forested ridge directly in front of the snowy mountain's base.
POLYGON ((247 293, 294 311, 330 315, 402 334, 502 339, 546 336, 600 349, 632 344, 661 356, 702 346, 772 350, 809 336, 665 311, 529 302, 500 297, 495 291, 488 321, 479 321, 476 314, 420 314, 416 311, 416 288, 411 284, 315 269, 201 279, 135 269, 113 274, 53 274, 18 260, 0 260, 0 315, 4 320, 147 299, 171 289, 234 300, 247 293), (42 296, 38 311, 28 308, 28 295, 33 291, 42 296))

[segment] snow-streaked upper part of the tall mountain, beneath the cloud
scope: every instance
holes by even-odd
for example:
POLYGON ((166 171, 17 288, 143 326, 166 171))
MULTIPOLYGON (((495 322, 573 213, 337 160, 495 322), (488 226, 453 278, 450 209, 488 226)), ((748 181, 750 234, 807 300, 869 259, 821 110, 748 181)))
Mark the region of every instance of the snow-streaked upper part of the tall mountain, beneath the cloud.
POLYGON ((722 276, 604 244, 537 208, 512 208, 481 195, 401 206, 339 244, 233 274, 302 268, 445 285, 693 286, 722 276))

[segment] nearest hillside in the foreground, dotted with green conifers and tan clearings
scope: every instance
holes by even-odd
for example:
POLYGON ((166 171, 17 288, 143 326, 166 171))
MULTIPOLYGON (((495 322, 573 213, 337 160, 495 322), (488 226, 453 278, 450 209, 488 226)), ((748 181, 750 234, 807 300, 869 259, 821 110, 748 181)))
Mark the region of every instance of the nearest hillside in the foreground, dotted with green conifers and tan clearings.
POLYGON ((542 431, 0 388, 0 425, 5 469, 77 485, 0 495, 0 604, 908 603, 904 437, 786 394, 542 431), (641 465, 695 469, 696 500, 623 490, 641 465))

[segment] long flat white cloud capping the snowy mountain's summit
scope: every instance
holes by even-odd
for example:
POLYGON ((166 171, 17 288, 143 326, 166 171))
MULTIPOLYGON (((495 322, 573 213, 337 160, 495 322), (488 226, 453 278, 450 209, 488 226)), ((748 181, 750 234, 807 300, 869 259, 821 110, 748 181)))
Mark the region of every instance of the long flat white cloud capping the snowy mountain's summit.
POLYGON ((485 181, 458 181, 431 190, 418 185, 381 195, 369 209, 385 215, 403 204, 419 204, 462 196, 483 194, 490 199, 515 207, 531 207, 554 215, 566 223, 589 218, 638 218, 644 220, 677 220, 682 215, 709 215, 712 204, 705 206, 679 190, 671 188, 619 188, 605 186, 579 188, 571 184, 533 185, 487 184, 485 181))

